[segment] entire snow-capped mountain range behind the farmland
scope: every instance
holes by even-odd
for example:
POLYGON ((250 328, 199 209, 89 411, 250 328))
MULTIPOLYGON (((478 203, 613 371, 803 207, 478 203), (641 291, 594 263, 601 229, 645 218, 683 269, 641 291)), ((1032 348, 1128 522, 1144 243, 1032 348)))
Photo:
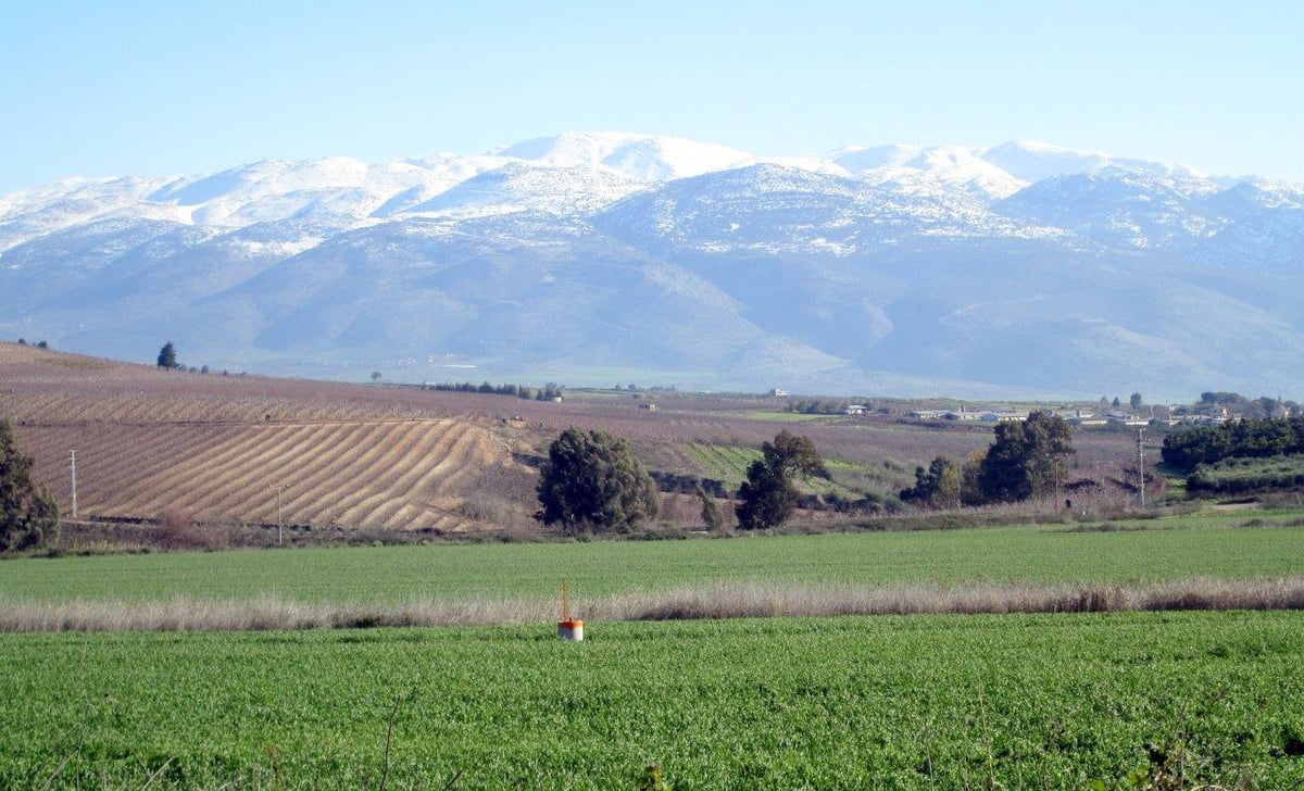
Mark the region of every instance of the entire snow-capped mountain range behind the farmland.
POLYGON ((0 335, 220 367, 1304 391, 1304 186, 1046 143, 566 133, 0 195, 0 335))

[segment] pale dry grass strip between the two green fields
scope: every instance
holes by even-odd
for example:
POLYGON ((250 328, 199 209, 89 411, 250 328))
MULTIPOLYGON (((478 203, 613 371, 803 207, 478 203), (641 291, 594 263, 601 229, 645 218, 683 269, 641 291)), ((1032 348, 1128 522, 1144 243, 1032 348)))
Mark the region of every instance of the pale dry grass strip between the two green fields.
MULTIPOLYGON (((210 632, 546 623, 556 602, 413 599, 404 603, 303 603, 274 597, 155 602, 27 602, 0 598, 0 632, 210 632)), ((580 602, 580 618, 685 620, 827 615, 1304 610, 1304 577, 1187 580, 1149 585, 778 585, 720 582, 625 593, 580 602)))

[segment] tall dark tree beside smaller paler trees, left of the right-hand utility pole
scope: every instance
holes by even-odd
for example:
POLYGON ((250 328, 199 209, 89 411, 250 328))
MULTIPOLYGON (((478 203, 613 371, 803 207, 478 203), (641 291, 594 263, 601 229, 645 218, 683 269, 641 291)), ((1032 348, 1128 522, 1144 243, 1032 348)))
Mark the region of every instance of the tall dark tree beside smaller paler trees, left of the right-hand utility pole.
POLYGON ((983 499, 1013 503, 1054 493, 1071 453, 1068 421, 1058 414, 1033 412, 1025 421, 998 425, 996 440, 978 469, 983 499))

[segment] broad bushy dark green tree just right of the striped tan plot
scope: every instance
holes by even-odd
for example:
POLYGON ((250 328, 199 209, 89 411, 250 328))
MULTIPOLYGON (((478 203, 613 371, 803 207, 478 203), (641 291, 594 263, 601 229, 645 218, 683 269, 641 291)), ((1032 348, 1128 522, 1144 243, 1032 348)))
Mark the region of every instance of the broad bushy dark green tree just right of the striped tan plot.
POLYGON ((566 532, 629 528, 659 511, 656 482, 630 443, 602 431, 562 431, 548 448, 536 487, 544 524, 566 532))

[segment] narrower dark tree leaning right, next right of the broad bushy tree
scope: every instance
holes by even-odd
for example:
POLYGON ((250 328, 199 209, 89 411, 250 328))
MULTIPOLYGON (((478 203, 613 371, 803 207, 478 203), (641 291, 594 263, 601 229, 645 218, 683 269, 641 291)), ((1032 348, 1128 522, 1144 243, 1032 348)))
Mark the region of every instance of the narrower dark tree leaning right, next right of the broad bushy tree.
POLYGON ((747 468, 747 480, 738 489, 738 526, 745 530, 775 528, 788 520, 801 493, 794 476, 827 478, 824 460, 808 437, 795 437, 786 429, 760 448, 762 457, 747 468))

